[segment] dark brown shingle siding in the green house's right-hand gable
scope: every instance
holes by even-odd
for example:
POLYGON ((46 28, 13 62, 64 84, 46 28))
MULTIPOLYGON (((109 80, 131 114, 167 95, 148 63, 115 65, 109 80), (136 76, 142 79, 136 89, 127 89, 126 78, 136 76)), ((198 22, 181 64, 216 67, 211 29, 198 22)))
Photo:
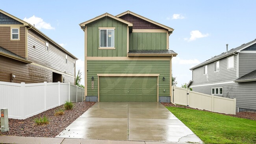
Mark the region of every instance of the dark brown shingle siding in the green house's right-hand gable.
POLYGON ((134 15, 126 14, 119 18, 122 18, 123 20, 126 20, 133 24, 133 29, 163 29, 166 30, 156 24, 152 24, 146 20, 143 20, 141 18, 135 17, 134 15))

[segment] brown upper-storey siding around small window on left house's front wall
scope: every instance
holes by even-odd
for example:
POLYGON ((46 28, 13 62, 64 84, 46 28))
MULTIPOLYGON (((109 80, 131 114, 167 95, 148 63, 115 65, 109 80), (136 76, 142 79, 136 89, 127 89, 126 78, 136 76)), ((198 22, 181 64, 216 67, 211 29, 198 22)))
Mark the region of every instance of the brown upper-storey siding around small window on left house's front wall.
MULTIPOLYGON (((15 26, 16 27, 16 26, 15 26)), ((26 30, 20 26, 20 40, 11 41, 11 27, 0 27, 0 46, 21 56, 26 57, 26 30)))

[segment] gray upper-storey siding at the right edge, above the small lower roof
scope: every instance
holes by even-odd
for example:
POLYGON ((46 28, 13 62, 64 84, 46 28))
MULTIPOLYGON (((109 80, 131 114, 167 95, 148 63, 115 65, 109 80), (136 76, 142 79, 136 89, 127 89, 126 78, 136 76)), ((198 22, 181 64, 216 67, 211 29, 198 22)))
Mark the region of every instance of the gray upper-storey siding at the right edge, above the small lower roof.
POLYGON ((256 70, 256 53, 239 53, 239 78, 256 70))

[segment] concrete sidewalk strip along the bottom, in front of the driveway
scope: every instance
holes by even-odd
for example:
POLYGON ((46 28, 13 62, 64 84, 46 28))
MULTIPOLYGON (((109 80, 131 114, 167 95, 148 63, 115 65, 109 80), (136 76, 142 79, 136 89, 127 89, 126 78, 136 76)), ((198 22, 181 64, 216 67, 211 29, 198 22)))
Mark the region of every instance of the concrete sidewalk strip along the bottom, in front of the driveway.
POLYGON ((0 144, 188 144, 188 143, 0 136, 0 144))

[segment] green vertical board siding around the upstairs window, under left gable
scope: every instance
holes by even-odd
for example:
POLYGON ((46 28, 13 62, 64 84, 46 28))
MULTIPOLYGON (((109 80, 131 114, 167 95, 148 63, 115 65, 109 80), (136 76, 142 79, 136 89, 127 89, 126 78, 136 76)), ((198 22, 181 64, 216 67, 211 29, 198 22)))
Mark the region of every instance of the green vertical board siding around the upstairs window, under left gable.
POLYGON ((87 57, 126 57, 127 24, 110 17, 100 18, 87 25, 87 57), (99 50, 100 27, 115 27, 115 50, 99 50))

